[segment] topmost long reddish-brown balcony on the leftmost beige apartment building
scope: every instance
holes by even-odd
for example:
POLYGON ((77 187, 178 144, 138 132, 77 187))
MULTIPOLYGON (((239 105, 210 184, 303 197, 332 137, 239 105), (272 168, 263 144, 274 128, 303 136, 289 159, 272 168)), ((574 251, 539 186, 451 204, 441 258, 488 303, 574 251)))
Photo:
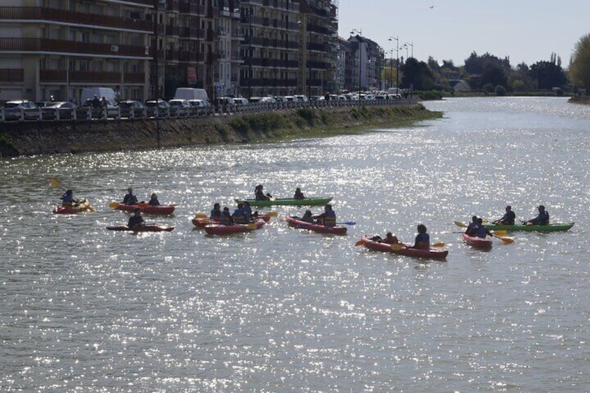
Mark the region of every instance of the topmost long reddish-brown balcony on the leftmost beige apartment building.
POLYGON ((154 29, 152 22, 144 19, 77 13, 46 7, 0 7, 0 19, 31 20, 31 22, 44 20, 49 23, 61 22, 78 26, 104 26, 113 29, 143 31, 145 33, 151 33, 154 29))

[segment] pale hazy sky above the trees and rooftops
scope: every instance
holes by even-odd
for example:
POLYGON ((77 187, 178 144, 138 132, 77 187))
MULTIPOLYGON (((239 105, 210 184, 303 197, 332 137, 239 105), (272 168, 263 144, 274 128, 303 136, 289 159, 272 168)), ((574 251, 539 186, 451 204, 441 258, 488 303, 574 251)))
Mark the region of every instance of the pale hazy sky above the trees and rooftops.
MULTIPOLYGON (((575 44, 590 33, 590 0, 340 0, 339 35, 351 29, 374 40, 391 57, 399 37, 413 43, 414 57, 463 65, 472 51, 508 56, 513 67, 549 61, 568 67, 575 44), (432 7, 432 8, 431 8, 432 7)), ((408 45, 408 55, 412 47, 408 45)), ((395 51, 393 56, 395 57, 395 51)))

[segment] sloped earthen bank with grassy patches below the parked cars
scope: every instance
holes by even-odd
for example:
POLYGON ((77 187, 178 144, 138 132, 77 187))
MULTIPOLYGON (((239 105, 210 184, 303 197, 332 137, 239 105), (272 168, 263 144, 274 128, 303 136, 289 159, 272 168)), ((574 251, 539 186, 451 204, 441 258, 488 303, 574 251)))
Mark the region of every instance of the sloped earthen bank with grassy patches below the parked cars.
POLYGON ((0 125, 0 156, 106 152, 350 134, 439 118, 422 104, 273 111, 168 120, 21 122, 0 125))

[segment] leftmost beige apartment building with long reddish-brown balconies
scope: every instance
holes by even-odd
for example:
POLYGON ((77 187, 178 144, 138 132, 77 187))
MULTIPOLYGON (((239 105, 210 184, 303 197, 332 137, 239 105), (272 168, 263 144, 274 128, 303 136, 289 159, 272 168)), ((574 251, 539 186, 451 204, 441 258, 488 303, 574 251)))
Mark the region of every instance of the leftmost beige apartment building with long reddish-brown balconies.
POLYGON ((0 7, 0 99, 77 102, 81 88, 147 95, 154 1, 7 0, 0 7))

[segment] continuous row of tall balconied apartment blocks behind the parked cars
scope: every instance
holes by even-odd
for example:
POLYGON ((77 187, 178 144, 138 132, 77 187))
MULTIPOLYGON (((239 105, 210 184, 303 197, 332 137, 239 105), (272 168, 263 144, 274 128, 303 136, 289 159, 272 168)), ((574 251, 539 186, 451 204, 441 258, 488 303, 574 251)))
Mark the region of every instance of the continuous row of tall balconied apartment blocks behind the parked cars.
POLYGON ((0 101, 323 95, 337 88, 334 0, 5 0, 0 101))

